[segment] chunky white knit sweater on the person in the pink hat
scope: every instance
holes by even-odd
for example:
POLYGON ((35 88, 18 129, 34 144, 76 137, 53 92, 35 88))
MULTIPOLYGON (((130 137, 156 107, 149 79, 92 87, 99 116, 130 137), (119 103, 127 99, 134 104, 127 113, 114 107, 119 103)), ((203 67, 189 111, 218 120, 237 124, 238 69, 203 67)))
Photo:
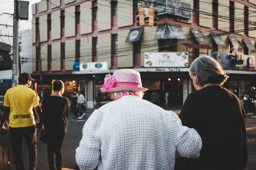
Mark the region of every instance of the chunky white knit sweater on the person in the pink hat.
POLYGON ((199 157, 202 141, 166 111, 137 96, 95 110, 83 127, 76 162, 83 169, 174 169, 175 153, 199 157))

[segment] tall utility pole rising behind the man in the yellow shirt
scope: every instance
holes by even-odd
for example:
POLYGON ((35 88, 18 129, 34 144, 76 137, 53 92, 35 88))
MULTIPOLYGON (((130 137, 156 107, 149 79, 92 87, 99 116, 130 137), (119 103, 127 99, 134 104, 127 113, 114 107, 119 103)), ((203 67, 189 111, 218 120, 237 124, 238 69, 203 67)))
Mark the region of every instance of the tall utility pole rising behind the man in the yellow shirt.
POLYGON ((12 87, 14 87, 18 85, 19 77, 19 0, 14 0, 12 51, 12 87))

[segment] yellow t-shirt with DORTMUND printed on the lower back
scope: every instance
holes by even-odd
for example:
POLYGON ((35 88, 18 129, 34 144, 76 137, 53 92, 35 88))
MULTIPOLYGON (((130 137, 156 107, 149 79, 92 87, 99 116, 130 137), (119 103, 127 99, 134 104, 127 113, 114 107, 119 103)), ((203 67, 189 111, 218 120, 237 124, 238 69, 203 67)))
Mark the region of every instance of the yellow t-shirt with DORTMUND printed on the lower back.
POLYGON ((35 125, 33 107, 39 106, 36 92, 26 85, 17 85, 7 90, 4 106, 10 107, 10 127, 35 125))

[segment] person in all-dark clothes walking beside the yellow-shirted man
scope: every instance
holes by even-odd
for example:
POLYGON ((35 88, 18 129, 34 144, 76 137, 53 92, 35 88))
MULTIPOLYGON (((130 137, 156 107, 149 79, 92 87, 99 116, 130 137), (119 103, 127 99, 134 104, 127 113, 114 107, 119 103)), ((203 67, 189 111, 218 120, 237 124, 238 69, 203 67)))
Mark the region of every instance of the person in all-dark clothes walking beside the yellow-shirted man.
POLYGON ((54 81, 53 90, 54 93, 45 97, 42 104, 42 123, 45 129, 50 129, 50 139, 47 143, 49 169, 61 170, 61 148, 67 134, 69 100, 68 97, 62 97, 65 90, 63 81, 54 81))

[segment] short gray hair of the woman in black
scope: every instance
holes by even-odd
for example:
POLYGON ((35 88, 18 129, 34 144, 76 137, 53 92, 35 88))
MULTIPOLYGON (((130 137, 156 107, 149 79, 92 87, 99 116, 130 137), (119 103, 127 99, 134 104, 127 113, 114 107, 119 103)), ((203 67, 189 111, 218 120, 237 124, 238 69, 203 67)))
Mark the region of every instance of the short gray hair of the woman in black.
POLYGON ((200 56, 195 59, 189 67, 189 74, 196 75, 197 85, 207 83, 223 85, 228 79, 221 65, 209 56, 200 56))

